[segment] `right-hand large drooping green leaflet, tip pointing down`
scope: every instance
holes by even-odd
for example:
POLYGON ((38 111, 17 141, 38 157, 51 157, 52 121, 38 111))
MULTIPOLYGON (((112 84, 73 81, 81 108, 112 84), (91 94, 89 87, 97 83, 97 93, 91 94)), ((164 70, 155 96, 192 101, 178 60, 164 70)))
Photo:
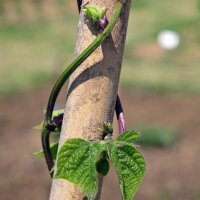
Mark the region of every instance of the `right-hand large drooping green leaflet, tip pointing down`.
POLYGON ((131 143, 116 141, 109 144, 109 158, 117 171, 123 199, 132 200, 145 174, 143 156, 131 143))

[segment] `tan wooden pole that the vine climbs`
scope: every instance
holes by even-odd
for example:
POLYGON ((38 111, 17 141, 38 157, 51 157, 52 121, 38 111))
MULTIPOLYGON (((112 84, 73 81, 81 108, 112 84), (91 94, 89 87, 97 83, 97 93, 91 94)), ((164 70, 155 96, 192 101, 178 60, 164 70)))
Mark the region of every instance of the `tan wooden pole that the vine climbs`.
MULTIPOLYGON (((108 8, 107 16, 110 19, 117 1, 90 0, 90 4, 108 8)), ((69 138, 101 139, 101 124, 113 121, 130 1, 127 0, 112 35, 70 78, 59 148, 69 138)), ((95 37, 93 28, 84 22, 84 16, 81 14, 75 56, 79 55, 95 37)), ((53 180, 50 200, 83 198, 83 192, 74 184, 64 180, 53 180)))

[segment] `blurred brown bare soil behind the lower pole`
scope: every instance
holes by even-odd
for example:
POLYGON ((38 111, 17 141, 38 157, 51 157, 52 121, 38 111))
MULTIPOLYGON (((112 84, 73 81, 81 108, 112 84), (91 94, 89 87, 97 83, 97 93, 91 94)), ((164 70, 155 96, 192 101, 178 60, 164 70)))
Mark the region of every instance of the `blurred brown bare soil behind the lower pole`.
MULTIPOLYGON (((49 91, 49 87, 43 87, 0 101, 2 200, 48 199, 51 180, 46 164, 31 153, 41 146, 40 134, 32 127, 42 120, 49 91)), ((147 123, 181 133, 180 141, 172 148, 140 148, 147 173, 135 199, 199 200, 200 96, 125 90, 120 96, 129 128, 147 123)), ((113 173, 105 179, 102 199, 121 199, 113 173)))

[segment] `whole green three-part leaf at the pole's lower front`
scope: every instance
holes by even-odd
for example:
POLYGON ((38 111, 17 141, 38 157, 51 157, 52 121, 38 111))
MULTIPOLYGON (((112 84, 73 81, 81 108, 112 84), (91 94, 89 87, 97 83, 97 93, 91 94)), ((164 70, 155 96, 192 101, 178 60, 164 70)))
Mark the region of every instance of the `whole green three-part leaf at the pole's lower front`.
POLYGON ((145 161, 133 142, 137 131, 127 131, 116 141, 67 140, 61 147, 55 178, 79 185, 89 200, 98 191, 97 173, 106 175, 109 162, 117 171, 123 200, 132 200, 145 173, 145 161))

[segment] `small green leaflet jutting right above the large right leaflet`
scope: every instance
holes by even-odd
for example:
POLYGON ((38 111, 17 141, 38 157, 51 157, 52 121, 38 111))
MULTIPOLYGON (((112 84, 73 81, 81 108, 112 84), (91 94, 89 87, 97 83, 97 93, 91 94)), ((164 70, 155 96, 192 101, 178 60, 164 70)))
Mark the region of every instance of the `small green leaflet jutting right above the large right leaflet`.
POLYGON ((140 135, 140 132, 135 130, 126 131, 118 136, 116 141, 134 143, 140 137, 140 135))

